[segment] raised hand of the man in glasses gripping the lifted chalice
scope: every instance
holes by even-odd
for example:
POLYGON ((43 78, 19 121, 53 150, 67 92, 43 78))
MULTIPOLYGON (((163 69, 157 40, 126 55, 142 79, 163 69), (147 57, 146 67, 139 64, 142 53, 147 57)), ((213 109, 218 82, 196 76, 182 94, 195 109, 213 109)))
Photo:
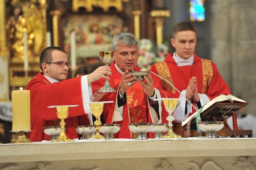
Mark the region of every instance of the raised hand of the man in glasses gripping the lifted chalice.
POLYGON ((93 73, 88 74, 88 76, 87 76, 88 84, 90 84, 94 81, 97 81, 100 78, 109 80, 110 78, 106 75, 112 75, 110 67, 106 66, 106 65, 100 66, 93 73))

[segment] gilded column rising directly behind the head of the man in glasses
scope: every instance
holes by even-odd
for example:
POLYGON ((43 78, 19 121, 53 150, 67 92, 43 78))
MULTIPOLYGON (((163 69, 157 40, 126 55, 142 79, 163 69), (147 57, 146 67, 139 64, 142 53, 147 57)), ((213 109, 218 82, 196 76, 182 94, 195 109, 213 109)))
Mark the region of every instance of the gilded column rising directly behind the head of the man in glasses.
POLYGON ((50 15, 53 16, 53 45, 58 47, 59 46, 58 20, 59 20, 60 11, 59 10, 51 11, 50 15))

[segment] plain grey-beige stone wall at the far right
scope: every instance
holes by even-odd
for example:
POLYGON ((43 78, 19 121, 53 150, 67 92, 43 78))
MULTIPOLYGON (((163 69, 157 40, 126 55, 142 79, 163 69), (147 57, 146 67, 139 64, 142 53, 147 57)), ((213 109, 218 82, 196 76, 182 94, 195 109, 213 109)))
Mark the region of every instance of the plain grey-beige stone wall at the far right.
POLYGON ((212 0, 209 10, 211 59, 231 93, 249 103, 246 112, 256 115, 256 1, 212 0))

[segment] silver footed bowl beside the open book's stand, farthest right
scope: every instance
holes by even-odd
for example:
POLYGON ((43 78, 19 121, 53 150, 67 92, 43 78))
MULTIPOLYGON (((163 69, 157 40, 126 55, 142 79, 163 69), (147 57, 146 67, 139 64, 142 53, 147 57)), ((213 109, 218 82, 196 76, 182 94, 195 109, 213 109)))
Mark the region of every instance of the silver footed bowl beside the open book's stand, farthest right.
POLYGON ((219 131, 224 127, 224 121, 198 122, 198 127, 205 132, 205 137, 217 138, 216 131, 219 131))

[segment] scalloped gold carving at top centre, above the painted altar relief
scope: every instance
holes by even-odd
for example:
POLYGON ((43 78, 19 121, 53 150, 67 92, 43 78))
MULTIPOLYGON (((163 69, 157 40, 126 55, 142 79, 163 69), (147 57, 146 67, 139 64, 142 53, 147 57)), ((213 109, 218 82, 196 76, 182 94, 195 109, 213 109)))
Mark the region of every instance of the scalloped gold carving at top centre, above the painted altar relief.
POLYGON ((117 12, 123 11, 122 0, 73 0, 72 11, 77 12, 80 7, 84 7, 87 12, 92 12, 93 7, 101 7, 104 12, 108 12, 110 7, 115 7, 117 12))

